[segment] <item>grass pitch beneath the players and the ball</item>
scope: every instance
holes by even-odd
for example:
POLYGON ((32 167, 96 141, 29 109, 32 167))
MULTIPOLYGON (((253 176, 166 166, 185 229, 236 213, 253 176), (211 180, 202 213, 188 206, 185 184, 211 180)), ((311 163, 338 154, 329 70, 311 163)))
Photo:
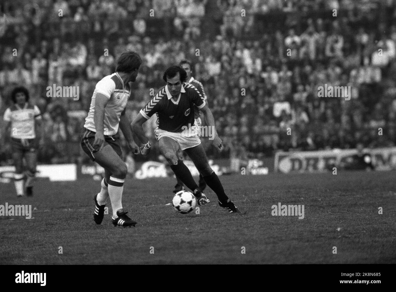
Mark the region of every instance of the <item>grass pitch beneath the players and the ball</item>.
POLYGON ((138 222, 132 228, 112 225, 110 204, 103 223, 93 222, 98 181, 39 179, 34 196, 21 198, 12 183, 0 184, 0 205, 34 209, 30 220, 0 217, 0 264, 395 264, 395 177, 221 176, 241 215, 219 207, 211 190, 200 214, 178 214, 166 205, 174 179, 128 177, 123 205, 138 222), (272 216, 279 202, 304 205, 305 218, 272 216))

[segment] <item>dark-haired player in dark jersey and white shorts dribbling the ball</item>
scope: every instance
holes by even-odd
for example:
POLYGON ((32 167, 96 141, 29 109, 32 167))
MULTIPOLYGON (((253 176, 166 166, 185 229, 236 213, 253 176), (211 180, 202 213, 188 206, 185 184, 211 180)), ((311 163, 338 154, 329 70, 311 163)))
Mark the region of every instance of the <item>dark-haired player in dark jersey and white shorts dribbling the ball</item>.
POLYGON ((188 135, 183 131, 183 126, 195 127, 194 106, 197 106, 204 113, 207 125, 214 129, 213 146, 218 150, 221 148, 221 139, 214 127, 213 114, 198 89, 185 82, 186 78, 187 73, 180 66, 169 67, 163 76, 166 85, 160 88, 159 92, 140 110, 131 123, 137 138, 144 143, 141 152, 147 154, 151 147, 150 142, 145 137, 143 123, 153 114, 157 114, 158 127, 154 133, 158 140, 158 147, 168 161, 173 173, 192 190, 198 205, 205 205, 210 201, 197 186, 187 166, 179 159, 177 155, 179 148, 185 150, 204 177, 206 184, 216 193, 219 205, 230 213, 240 212, 227 197, 219 177, 209 166, 208 158, 197 131, 191 131, 191 134, 188 135))

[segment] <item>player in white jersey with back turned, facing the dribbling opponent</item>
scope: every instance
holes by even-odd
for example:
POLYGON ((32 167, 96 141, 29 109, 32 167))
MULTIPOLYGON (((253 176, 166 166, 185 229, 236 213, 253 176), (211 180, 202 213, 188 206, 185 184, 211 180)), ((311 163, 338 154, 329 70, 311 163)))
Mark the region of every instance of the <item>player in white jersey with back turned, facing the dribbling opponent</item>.
POLYGON ((93 91, 88 117, 85 119, 81 146, 92 161, 105 169, 101 191, 94 196, 95 212, 93 220, 101 224, 110 197, 112 223, 114 226, 135 226, 122 209, 122 192, 127 174, 127 166, 121 159, 121 129, 133 154, 140 153, 132 138, 130 122, 125 115, 125 107, 131 95, 129 82, 135 82, 142 61, 135 52, 123 53, 118 61, 116 72, 104 77, 93 91))

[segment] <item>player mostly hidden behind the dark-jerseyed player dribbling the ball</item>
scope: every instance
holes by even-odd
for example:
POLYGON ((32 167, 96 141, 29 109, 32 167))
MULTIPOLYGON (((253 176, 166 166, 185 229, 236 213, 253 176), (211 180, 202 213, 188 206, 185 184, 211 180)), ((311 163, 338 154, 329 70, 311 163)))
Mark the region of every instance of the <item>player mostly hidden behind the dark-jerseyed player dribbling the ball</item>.
MULTIPOLYGON (((181 68, 183 68, 187 73, 187 80, 188 80, 187 83, 194 85, 194 87, 196 89, 198 89, 198 91, 204 98, 206 104, 208 104, 204 86, 202 85, 201 82, 199 82, 198 80, 194 79, 194 77, 191 76, 192 75, 191 63, 189 61, 183 60, 179 63, 179 66, 181 66, 181 68)), ((209 104, 208 104, 208 106, 209 106, 209 104)), ((201 111, 197 106, 194 106, 194 119, 195 119, 194 125, 196 125, 197 127, 200 127, 202 125, 201 111)), ((179 151, 177 155, 179 158, 182 158, 183 152, 179 151)), ((176 180, 177 180, 177 184, 175 186, 175 189, 173 190, 173 193, 177 193, 181 190, 184 190, 184 184, 180 180, 180 178, 177 178, 177 176, 176 176, 176 180)), ((206 188, 206 182, 205 182, 204 178, 202 177, 202 174, 199 175, 198 187, 200 188, 201 191, 204 191, 206 188)))

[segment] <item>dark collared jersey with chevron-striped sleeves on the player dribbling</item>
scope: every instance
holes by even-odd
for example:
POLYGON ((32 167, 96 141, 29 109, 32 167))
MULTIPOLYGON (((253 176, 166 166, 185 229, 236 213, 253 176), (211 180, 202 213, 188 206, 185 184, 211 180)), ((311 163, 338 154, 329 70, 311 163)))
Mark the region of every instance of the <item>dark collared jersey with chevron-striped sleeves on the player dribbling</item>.
POLYGON ((201 109, 205 106, 204 97, 190 83, 183 83, 178 99, 172 99, 168 85, 160 91, 140 110, 140 114, 149 119, 157 114, 159 129, 168 132, 180 132, 183 126, 194 125, 194 106, 201 109))

